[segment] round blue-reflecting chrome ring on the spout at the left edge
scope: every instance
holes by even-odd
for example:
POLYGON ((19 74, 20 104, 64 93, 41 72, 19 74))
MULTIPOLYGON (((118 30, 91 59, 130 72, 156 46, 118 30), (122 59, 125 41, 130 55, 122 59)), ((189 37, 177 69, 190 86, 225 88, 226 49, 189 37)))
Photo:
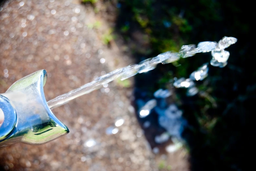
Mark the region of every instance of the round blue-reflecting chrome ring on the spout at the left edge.
POLYGON ((0 142, 8 138, 17 122, 17 114, 10 101, 0 94, 0 109, 4 112, 4 122, 0 127, 0 142), (8 113, 8 114, 7 114, 8 113))

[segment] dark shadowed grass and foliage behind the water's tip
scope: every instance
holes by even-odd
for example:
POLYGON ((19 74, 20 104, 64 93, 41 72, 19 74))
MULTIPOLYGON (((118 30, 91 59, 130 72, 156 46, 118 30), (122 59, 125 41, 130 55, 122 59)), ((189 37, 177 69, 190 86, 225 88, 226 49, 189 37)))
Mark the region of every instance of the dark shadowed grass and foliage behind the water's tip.
MULTIPOLYGON (((255 51, 250 41, 254 26, 249 19, 255 16, 253 7, 232 0, 120 0, 119 4, 116 30, 130 45, 137 62, 166 51, 178 51, 185 44, 219 41, 224 36, 238 39, 227 49, 228 65, 210 66, 208 77, 197 81, 199 94, 187 97, 186 90, 178 89, 174 101, 181 104, 189 123, 183 136, 192 170, 245 170, 252 160, 246 152, 255 144, 254 134, 246 135, 255 131, 252 116, 256 72, 252 70, 255 58, 251 58, 255 51)), ((174 77, 189 77, 210 59, 210 53, 197 54, 159 65, 137 75, 136 88, 147 91, 144 94, 150 98, 174 77)), ((157 122, 157 118, 154 120, 157 122)))

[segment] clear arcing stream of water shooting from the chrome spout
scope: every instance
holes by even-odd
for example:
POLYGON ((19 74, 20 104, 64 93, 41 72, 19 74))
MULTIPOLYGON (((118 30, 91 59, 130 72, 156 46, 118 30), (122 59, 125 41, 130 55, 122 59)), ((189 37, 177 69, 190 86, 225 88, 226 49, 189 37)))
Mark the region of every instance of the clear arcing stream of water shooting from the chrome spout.
MULTIPOLYGON (((167 64, 179 60, 180 58, 187 58, 195 55, 196 53, 201 52, 210 52, 210 51, 223 51, 226 47, 231 44, 236 43, 237 39, 233 37, 224 37, 222 40, 217 42, 200 42, 197 47, 195 45, 184 45, 181 47, 179 53, 168 51, 162 54, 159 54, 156 57, 149 58, 147 60, 141 61, 139 64, 128 65, 124 68, 119 68, 114 70, 104 76, 99 77, 98 79, 87 83, 75 90, 72 90, 66 94, 62 94, 52 100, 47 102, 50 109, 54 109, 61 105, 68 103, 70 100, 79 97, 84 94, 88 94, 94 90, 100 89, 103 84, 106 84, 110 81, 113 81, 116 78, 120 78, 121 80, 132 77, 138 73, 144 73, 156 68, 156 65, 159 63, 167 64)), ((215 53, 215 52, 214 52, 215 53)), ((217 55, 216 55, 217 56, 217 55)), ((224 55, 225 56, 225 55, 224 55)), ((217 58, 217 57, 216 57, 217 58)), ((213 57, 215 66, 224 67, 226 66, 226 58, 224 60, 218 60, 213 57), (216 61, 215 61, 216 59, 216 61), (225 62, 224 62, 225 61, 225 62), (219 62, 219 63, 218 63, 219 62)), ((223 57, 222 57, 223 58, 223 57)), ((213 64, 212 64, 213 65, 213 64)), ((214 66, 214 65, 213 65, 214 66)), ((184 86, 187 87, 188 84, 183 82, 184 86), (185 85, 186 84, 186 85, 185 85)), ((188 86, 190 87, 190 86, 188 86)))

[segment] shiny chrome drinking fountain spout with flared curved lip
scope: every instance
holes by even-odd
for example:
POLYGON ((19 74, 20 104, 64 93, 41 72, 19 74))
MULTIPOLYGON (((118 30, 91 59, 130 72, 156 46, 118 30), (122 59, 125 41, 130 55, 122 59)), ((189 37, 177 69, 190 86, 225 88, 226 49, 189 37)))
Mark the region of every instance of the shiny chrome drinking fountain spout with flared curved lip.
POLYGON ((46 79, 46 71, 40 70, 0 94, 0 109, 4 113, 0 148, 19 142, 41 145, 69 133, 47 105, 43 91, 46 79))

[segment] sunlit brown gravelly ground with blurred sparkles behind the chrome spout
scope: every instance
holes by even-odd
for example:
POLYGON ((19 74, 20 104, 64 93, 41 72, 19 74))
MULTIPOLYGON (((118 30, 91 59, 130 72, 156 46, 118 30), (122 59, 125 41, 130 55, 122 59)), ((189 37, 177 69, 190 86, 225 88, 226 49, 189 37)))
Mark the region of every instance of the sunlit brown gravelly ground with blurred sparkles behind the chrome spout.
MULTIPOLYGON (((92 6, 79 1, 7 1, 0 9, 0 92, 16 80, 45 69, 48 79, 44 93, 50 100, 133 63, 122 39, 103 43, 106 30, 114 25, 115 13, 104 13, 108 7, 101 2, 97 6, 103 12, 96 14, 92 6)), ((160 153, 152 152, 132 106, 134 79, 129 81, 128 87, 111 82, 54 109, 70 133, 45 145, 14 144, 1 149, 0 167, 189 170, 183 148, 167 153, 160 145, 160 153), (124 123, 116 127, 120 119, 124 123)))

